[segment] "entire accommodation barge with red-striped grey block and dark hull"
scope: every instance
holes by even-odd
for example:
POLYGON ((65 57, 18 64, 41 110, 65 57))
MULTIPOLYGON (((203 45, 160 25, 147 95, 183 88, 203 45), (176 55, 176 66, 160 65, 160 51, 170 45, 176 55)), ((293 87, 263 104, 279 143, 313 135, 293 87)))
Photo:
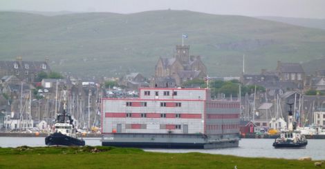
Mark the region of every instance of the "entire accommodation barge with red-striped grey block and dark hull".
POLYGON ((138 99, 102 99, 102 145, 226 148, 239 144, 240 101, 210 89, 140 88, 138 99))

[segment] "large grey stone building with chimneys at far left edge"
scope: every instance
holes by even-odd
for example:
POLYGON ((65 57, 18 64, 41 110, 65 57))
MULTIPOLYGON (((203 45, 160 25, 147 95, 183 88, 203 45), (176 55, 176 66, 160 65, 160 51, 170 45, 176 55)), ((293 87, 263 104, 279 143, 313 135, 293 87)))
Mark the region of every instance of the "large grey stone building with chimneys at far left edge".
POLYGON ((22 61, 17 57, 16 61, 0 61, 0 77, 14 75, 21 81, 35 82, 39 72, 50 72, 48 60, 22 61))

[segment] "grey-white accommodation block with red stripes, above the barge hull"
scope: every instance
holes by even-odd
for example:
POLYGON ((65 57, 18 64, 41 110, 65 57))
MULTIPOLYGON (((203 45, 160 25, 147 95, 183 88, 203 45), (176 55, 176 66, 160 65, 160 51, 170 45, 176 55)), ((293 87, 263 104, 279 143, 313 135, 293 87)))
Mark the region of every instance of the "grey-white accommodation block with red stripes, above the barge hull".
POLYGON ((102 99, 102 134, 202 134, 234 138, 239 101, 210 99, 209 89, 140 88, 138 99, 102 99))

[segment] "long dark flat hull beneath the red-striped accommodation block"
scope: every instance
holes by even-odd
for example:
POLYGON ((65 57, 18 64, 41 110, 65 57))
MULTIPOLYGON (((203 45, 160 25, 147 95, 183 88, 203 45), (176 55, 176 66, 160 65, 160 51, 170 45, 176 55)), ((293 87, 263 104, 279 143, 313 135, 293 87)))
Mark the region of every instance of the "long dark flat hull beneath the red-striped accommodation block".
POLYGON ((174 149, 234 148, 239 146, 239 138, 233 137, 232 139, 212 139, 207 135, 155 135, 120 133, 103 135, 102 146, 174 149))

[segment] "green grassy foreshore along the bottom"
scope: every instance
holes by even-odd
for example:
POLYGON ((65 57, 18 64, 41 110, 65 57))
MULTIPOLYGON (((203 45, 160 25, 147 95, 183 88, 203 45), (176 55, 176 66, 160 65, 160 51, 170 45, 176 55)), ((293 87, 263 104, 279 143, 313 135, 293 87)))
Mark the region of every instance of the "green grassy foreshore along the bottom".
MULTIPOLYGON (((249 153, 249 152, 248 152, 249 153)), ((315 168, 315 161, 144 152, 136 148, 0 148, 0 168, 315 168)), ((324 166, 322 166, 323 168, 324 166)))

